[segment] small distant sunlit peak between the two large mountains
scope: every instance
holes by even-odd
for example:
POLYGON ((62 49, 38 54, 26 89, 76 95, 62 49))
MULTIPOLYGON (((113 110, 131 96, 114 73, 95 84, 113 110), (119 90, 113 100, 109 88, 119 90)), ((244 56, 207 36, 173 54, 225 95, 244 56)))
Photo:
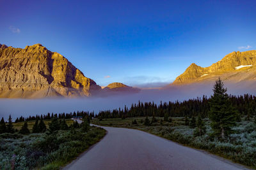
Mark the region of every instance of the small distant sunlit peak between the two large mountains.
POLYGON ((102 89, 104 92, 139 92, 140 89, 124 85, 123 83, 110 83, 102 89))

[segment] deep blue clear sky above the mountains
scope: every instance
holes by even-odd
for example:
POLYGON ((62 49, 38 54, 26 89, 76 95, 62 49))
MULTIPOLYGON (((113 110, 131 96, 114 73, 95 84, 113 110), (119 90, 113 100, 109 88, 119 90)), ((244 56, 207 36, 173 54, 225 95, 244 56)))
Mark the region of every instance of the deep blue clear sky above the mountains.
POLYGON ((192 62, 205 67, 255 50, 255 7, 255 0, 0 0, 0 43, 41 43, 102 86, 157 86, 192 62))

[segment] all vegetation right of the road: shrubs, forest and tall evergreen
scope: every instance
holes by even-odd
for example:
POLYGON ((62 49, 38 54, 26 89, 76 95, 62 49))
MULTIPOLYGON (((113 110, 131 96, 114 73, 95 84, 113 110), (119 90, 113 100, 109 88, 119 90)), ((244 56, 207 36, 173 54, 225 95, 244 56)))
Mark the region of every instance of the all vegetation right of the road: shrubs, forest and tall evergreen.
POLYGON ((102 111, 92 123, 150 132, 255 168, 256 97, 228 96, 220 79, 213 92, 210 99, 159 106, 139 103, 127 110, 126 115, 125 110, 102 111), (134 113, 132 110, 140 112, 129 117, 134 113), (180 116, 176 110, 180 110, 180 116))

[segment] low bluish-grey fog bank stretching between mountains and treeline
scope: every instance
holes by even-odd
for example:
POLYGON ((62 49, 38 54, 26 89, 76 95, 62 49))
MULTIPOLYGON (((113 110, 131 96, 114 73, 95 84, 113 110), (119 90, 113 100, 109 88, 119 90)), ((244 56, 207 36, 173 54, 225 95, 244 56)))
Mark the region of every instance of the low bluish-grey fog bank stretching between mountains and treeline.
MULTIPOLYGON (((144 89, 135 94, 120 94, 108 97, 86 97, 76 99, 0 99, 0 117, 8 118, 11 114, 13 121, 15 118, 28 117, 29 115, 47 114, 47 113, 70 113, 73 111, 95 111, 97 114, 100 110, 113 110, 115 108, 130 107, 132 103, 160 101, 183 101, 212 95, 214 82, 201 83, 194 85, 183 85, 179 87, 168 86, 163 89, 144 89)), ((255 95, 255 85, 247 84, 228 84, 228 94, 255 95)))

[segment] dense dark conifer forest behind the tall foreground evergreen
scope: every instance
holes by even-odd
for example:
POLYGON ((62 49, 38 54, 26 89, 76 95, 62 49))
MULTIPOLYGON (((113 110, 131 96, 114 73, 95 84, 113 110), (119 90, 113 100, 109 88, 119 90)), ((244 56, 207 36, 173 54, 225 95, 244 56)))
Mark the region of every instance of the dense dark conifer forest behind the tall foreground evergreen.
MULTIPOLYGON (((231 106, 237 110, 237 114, 246 115, 248 119, 256 113, 256 97, 244 94, 244 96, 227 96, 231 106)), ((188 101, 169 101, 168 103, 156 104, 154 102, 132 104, 131 108, 125 106, 124 110, 100 111, 95 117, 99 118, 126 118, 126 117, 209 117, 210 103, 206 96, 189 99, 188 101)))

